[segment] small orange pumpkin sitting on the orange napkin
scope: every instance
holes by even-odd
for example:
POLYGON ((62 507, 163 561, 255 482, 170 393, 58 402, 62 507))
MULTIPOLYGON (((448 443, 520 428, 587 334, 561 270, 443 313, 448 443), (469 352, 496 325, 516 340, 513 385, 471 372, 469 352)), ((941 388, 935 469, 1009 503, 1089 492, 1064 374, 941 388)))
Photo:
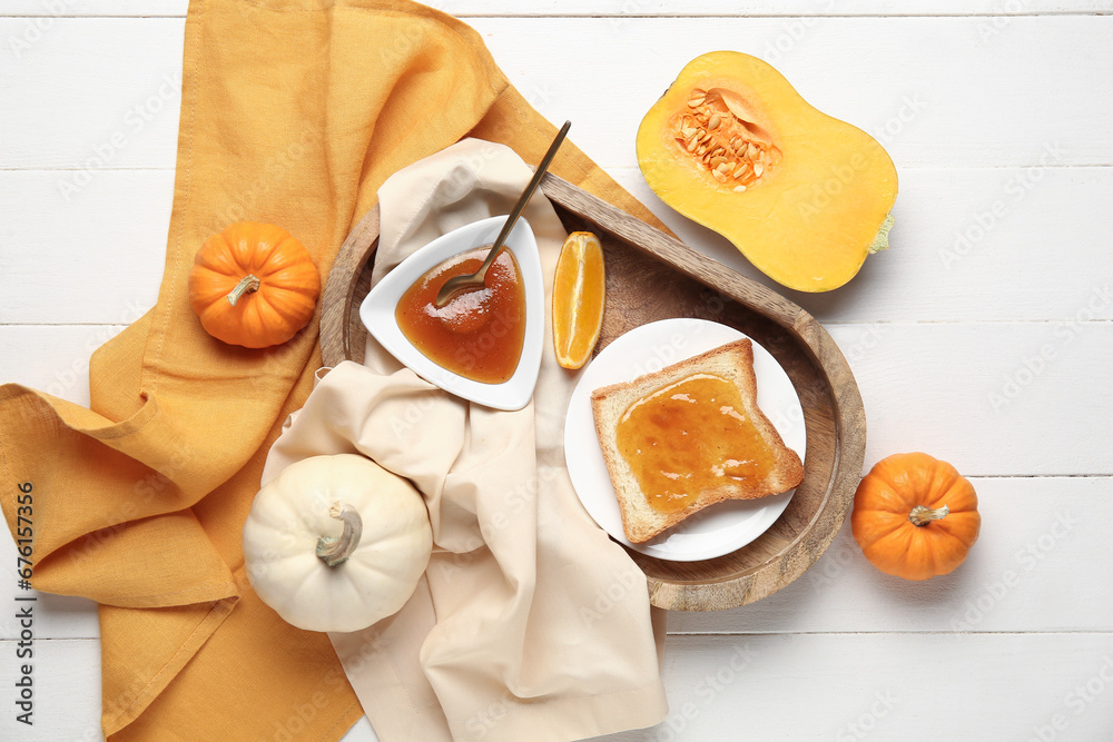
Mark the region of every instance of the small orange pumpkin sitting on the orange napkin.
POLYGON ((205 332, 248 348, 294 337, 313 318, 319 294, 309 251, 268 224, 240 221, 213 235, 189 274, 189 305, 205 332))

